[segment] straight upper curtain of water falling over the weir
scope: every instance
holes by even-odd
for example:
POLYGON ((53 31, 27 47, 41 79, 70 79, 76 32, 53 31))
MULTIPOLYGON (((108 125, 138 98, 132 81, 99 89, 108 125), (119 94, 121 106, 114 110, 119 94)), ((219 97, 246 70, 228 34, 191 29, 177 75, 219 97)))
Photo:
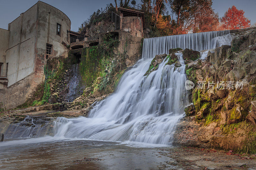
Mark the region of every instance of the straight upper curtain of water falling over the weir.
POLYGON ((144 39, 142 55, 145 58, 152 58, 157 54, 168 54, 171 48, 201 51, 230 45, 231 41, 232 37, 228 30, 147 38, 144 39))

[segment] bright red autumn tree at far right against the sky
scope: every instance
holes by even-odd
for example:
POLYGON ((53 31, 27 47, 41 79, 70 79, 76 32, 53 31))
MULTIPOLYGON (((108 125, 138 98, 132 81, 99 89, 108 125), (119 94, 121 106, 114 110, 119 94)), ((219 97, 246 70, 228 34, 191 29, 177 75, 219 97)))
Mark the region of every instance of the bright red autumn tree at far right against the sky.
POLYGON ((220 18, 220 21, 223 23, 223 27, 228 30, 248 28, 251 26, 251 21, 244 17, 244 11, 238 10, 234 5, 228 8, 228 11, 220 18))

